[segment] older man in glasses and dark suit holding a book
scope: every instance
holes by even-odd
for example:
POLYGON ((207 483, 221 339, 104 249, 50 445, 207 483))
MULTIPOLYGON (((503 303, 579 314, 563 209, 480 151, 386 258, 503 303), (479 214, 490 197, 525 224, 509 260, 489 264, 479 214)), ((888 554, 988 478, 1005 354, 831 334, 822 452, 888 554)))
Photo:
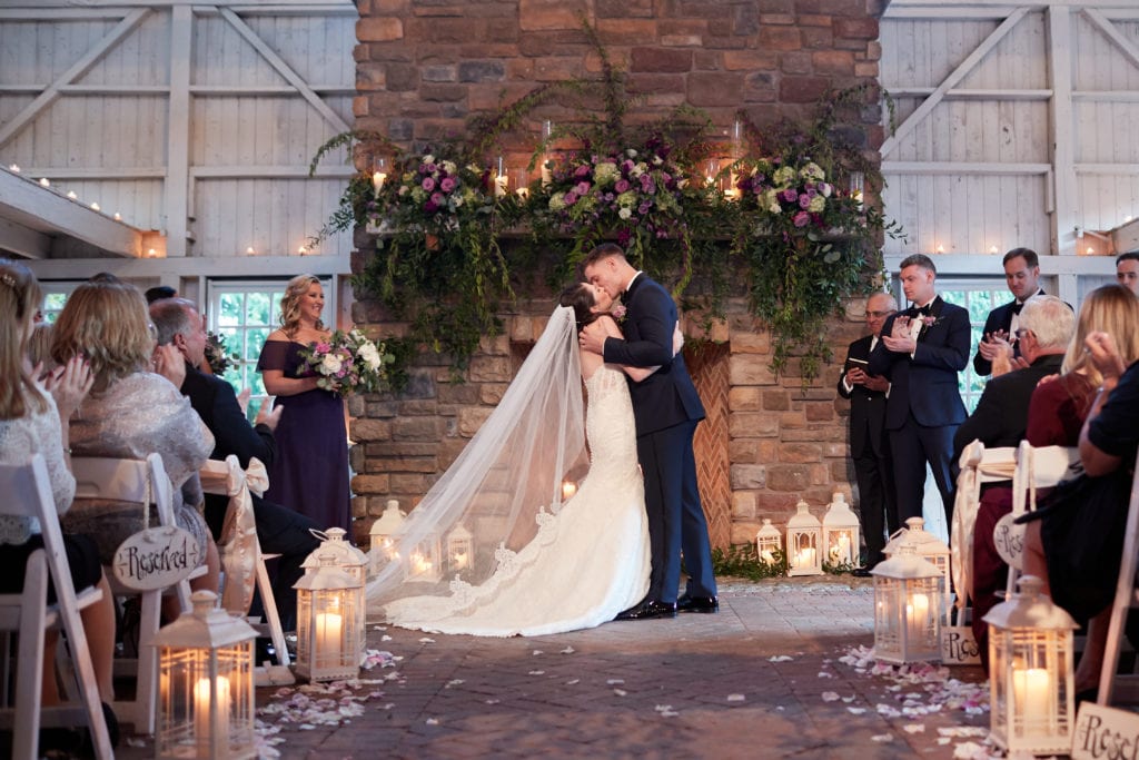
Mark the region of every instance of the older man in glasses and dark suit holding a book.
POLYGON ((898 303, 888 293, 875 293, 866 300, 866 326, 870 334, 850 344, 845 371, 838 378, 838 395, 851 400, 851 460, 858 483, 862 537, 866 539, 866 565, 854 569, 854 574, 859 577, 869 575, 869 571, 883 561, 886 532, 893 533, 899 528, 890 442, 885 430, 890 382, 866 371, 870 351, 878 343, 878 333, 886 318, 895 311, 898 303))

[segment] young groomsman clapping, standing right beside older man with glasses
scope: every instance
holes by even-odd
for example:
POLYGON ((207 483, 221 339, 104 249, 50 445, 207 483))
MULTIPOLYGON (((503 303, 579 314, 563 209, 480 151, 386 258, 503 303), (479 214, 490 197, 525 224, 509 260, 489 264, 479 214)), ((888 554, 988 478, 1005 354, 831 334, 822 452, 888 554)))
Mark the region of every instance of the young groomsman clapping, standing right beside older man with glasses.
POLYGON ((937 295, 937 269, 929 256, 903 259, 899 278, 913 305, 886 320, 868 369, 890 379, 886 430, 898 516, 921 516, 928 463, 945 505, 945 522, 952 524, 953 432, 965 420, 957 374, 969 361, 969 313, 937 295))

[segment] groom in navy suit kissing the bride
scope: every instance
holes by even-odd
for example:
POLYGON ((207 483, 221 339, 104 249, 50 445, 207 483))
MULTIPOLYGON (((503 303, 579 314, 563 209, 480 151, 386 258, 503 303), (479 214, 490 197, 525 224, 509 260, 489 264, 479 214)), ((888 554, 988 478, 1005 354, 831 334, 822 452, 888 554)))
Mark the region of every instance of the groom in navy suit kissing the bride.
POLYGON ((677 304, 644 272, 633 269, 613 243, 593 248, 583 262, 585 279, 625 305, 624 340, 606 337, 599 322, 587 325, 581 346, 607 363, 661 368, 629 383, 637 423, 637 457, 645 474, 653 571, 648 596, 617 620, 674 618, 680 612, 716 612, 708 528, 696 484, 693 434, 704 406, 681 354, 672 356, 677 304), (689 580, 677 599, 683 549, 689 580))

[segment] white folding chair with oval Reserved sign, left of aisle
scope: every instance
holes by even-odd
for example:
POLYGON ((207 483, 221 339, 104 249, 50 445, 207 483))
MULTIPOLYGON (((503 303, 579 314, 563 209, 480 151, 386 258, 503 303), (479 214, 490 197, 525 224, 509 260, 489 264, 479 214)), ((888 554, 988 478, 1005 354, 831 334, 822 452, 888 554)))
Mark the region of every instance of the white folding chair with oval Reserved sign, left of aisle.
MULTIPOLYGON (((146 459, 116 459, 110 457, 72 457, 72 472, 75 474, 76 499, 107 499, 138 504, 139 509, 154 504, 162 525, 174 525, 174 509, 170 477, 157 453, 146 459)), ((203 550, 205 547, 200 547, 203 550)), ((197 578, 206 572, 198 567, 189 578, 197 578)), ((107 569, 107 581, 116 597, 141 598, 139 620, 139 646, 137 661, 137 688, 134 698, 116 700, 112 705, 122 722, 134 726, 134 730, 153 734, 155 727, 155 695, 158 689, 158 651, 154 646, 154 635, 162 624, 162 597, 167 591, 178 595, 182 611, 190 607, 190 585, 182 580, 172 589, 138 591, 122 586, 107 569)), ((130 662, 120 660, 118 668, 129 667, 130 662)), ((122 672, 117 670, 116 672, 122 672)))

